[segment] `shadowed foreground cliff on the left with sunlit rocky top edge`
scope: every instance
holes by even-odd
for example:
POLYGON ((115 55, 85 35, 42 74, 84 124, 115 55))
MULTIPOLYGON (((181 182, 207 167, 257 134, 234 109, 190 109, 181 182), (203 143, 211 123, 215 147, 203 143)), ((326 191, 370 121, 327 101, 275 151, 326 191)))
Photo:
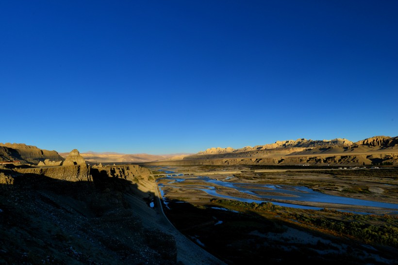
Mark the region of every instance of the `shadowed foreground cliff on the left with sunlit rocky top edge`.
POLYGON ((133 181, 145 182, 149 171, 84 165, 17 171, 0 169, 1 264, 177 262, 173 236, 144 227, 125 199, 153 197, 133 181), (117 172, 123 176, 108 174, 117 172))

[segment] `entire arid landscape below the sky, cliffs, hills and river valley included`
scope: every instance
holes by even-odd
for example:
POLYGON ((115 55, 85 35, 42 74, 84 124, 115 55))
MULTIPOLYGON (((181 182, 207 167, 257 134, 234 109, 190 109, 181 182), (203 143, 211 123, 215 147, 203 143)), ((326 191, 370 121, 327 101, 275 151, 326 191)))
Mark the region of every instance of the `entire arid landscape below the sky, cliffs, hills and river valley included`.
POLYGON ((397 149, 299 139, 145 162, 0 144, 0 262, 397 264, 397 149))

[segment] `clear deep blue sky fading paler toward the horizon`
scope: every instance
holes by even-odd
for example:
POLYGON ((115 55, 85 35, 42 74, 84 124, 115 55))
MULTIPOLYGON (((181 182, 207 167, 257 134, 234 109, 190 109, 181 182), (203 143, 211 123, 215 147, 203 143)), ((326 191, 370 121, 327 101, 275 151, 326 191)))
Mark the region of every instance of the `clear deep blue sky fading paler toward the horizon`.
POLYGON ((398 135, 398 1, 1 1, 0 142, 196 153, 398 135))

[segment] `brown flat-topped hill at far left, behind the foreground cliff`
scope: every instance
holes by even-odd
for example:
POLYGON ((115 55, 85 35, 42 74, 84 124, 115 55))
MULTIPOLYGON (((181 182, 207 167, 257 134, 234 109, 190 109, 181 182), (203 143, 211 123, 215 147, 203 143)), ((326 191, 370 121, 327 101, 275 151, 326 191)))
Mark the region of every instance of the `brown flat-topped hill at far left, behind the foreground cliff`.
POLYGON ((64 160, 56 151, 39 149, 23 143, 0 143, 0 161, 20 160, 22 163, 37 164, 45 159, 64 160))

